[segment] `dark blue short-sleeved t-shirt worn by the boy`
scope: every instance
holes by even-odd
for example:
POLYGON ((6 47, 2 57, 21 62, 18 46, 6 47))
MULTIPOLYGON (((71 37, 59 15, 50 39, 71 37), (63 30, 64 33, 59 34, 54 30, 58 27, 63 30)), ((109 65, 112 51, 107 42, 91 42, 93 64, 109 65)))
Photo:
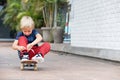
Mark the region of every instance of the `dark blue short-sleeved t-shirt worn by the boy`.
POLYGON ((28 40, 28 43, 31 43, 36 39, 36 34, 38 34, 38 32, 35 29, 32 31, 32 33, 29 36, 24 35, 23 32, 18 32, 16 36, 16 40, 18 40, 20 36, 25 36, 28 40))

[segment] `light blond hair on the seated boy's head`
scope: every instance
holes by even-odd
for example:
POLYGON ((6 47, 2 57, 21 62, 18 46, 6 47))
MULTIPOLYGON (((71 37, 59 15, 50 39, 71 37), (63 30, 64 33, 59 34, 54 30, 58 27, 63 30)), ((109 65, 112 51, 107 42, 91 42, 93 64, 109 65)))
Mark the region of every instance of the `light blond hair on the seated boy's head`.
POLYGON ((20 29, 32 28, 34 29, 34 21, 30 16, 23 16, 20 21, 20 29))

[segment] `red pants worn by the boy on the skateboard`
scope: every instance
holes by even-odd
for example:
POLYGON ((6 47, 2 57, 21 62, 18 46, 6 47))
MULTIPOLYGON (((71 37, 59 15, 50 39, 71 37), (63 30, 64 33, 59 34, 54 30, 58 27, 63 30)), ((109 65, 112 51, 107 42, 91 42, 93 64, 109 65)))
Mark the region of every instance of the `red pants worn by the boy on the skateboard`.
MULTIPOLYGON (((18 39, 18 45, 24 46, 27 48, 28 40, 25 36, 21 36, 18 39)), ((48 42, 44 42, 41 46, 33 46, 31 50, 28 52, 29 59, 31 59, 33 56, 35 56, 38 53, 41 53, 42 57, 46 55, 50 51, 50 44, 48 42)), ((22 56, 27 50, 24 50, 20 52, 20 55, 22 56)))

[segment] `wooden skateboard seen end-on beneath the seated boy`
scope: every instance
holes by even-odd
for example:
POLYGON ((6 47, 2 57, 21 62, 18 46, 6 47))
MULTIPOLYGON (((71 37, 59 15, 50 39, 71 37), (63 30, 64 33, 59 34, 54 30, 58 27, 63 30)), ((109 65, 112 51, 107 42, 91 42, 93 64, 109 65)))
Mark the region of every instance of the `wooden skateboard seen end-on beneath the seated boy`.
POLYGON ((26 60, 26 61, 21 61, 21 66, 20 66, 20 69, 21 70, 24 70, 25 67, 33 67, 33 69, 36 71, 38 68, 37 68, 37 61, 34 61, 34 60, 26 60))

